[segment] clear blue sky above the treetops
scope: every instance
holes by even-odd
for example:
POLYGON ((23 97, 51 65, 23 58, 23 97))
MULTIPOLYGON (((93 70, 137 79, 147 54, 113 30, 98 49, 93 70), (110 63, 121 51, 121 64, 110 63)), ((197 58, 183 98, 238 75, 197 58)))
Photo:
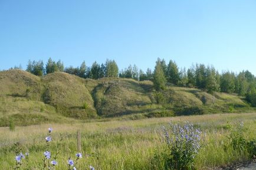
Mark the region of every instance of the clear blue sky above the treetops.
POLYGON ((0 69, 49 57, 144 71, 159 57, 256 75, 256 1, 0 0, 0 69))

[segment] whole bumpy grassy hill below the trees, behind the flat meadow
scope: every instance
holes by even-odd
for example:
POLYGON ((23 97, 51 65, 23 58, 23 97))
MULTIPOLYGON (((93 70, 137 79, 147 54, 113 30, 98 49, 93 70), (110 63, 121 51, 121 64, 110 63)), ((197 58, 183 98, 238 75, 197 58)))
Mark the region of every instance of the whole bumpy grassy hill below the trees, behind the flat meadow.
POLYGON ((91 118, 253 112, 240 96, 208 94, 169 85, 156 92, 150 81, 82 79, 64 72, 42 77, 12 69, 0 72, 0 126, 73 122, 91 118))

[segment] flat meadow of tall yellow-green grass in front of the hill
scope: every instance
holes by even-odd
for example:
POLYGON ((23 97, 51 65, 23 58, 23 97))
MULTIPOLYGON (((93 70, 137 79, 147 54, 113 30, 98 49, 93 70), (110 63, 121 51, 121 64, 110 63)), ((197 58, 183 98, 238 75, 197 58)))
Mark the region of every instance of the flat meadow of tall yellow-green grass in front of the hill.
POLYGON ((247 129, 245 139, 256 139, 256 114, 214 114, 150 118, 134 121, 110 120, 106 122, 76 122, 74 124, 42 124, 16 126, 15 131, 0 128, 0 164, 2 169, 15 166, 15 142, 24 152, 29 152, 29 167, 42 165, 45 136, 53 128, 50 151, 60 151, 55 169, 67 169, 69 156, 77 153, 77 130, 81 130, 83 158, 78 169, 165 169, 168 151, 162 125, 168 122, 189 121, 202 130, 201 150, 195 158, 196 169, 214 169, 247 161, 248 152, 232 148, 229 135, 237 122, 243 121, 247 129), (164 151, 164 152, 163 152, 164 151))

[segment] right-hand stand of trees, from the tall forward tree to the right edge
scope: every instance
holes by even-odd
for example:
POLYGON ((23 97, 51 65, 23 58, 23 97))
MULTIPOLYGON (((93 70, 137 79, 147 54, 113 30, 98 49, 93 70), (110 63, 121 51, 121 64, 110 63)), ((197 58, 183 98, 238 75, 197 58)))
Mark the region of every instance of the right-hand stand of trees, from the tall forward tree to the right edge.
POLYGON ((153 72, 153 82, 157 91, 165 90, 166 84, 199 88, 209 93, 226 92, 245 96, 252 106, 256 106, 256 78, 250 71, 235 74, 225 71, 219 74, 214 66, 192 65, 191 68, 178 68, 172 60, 166 64, 158 58, 153 72))

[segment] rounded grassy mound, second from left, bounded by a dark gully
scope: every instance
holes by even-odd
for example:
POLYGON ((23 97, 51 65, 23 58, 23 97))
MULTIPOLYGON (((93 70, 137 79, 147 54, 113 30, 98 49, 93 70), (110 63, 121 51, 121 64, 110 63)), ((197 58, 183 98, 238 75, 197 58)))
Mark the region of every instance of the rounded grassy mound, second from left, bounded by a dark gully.
POLYGON ((94 101, 84 79, 64 72, 42 77, 45 91, 42 100, 54 106, 57 112, 72 118, 86 119, 97 116, 94 101))

